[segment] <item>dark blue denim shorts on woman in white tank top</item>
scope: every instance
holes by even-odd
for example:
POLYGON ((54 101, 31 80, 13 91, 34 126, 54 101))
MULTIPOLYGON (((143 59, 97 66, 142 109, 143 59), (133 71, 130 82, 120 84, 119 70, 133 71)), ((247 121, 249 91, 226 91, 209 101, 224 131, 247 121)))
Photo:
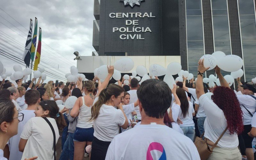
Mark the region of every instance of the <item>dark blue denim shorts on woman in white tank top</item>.
POLYGON ((76 142, 84 142, 84 141, 92 142, 93 132, 94 132, 94 129, 92 127, 91 128, 76 127, 73 140, 76 142))

